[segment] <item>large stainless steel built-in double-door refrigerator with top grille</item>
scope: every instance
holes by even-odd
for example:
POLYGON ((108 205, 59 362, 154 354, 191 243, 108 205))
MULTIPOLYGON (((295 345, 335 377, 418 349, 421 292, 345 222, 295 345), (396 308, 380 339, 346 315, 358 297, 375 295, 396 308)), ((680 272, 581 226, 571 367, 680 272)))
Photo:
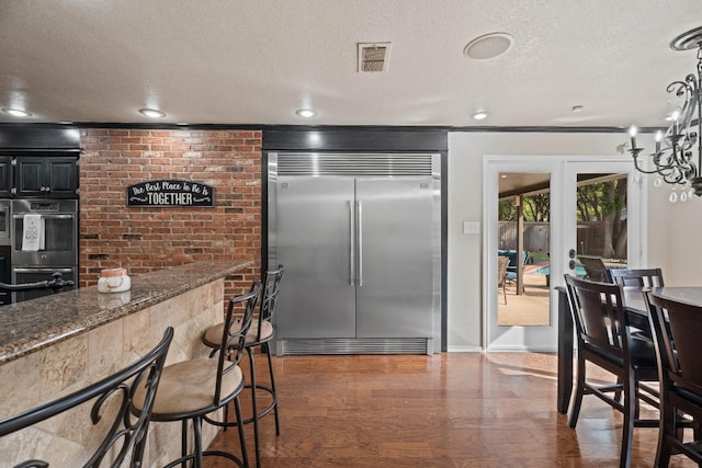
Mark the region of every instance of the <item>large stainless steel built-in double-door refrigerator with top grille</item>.
POLYGON ((438 351, 440 157, 272 153, 269 176, 278 354, 438 351))

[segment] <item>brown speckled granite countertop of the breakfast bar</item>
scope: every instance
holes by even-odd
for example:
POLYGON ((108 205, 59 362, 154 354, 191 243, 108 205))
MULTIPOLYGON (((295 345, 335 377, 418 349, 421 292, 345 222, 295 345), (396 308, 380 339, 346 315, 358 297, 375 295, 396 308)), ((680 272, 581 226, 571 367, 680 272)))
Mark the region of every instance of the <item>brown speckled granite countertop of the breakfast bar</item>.
POLYGON ((0 365, 251 266, 197 262, 132 276, 126 293, 89 286, 0 307, 0 365))

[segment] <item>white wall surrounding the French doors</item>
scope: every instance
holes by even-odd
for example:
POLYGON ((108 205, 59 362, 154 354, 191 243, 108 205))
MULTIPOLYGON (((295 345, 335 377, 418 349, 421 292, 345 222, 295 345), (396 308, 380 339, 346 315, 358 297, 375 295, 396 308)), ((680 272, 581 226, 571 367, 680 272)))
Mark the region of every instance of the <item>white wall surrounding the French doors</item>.
MULTIPOLYGON (((616 147, 627 141, 626 132, 619 134, 545 134, 545 133, 450 133, 449 134, 449 233, 448 233, 448 347, 449 351, 476 350, 482 343, 482 237, 464 235, 463 221, 483 224, 483 157, 486 155, 512 156, 616 156, 616 147)), ((641 141, 653 147, 652 141, 641 141)), ((668 189, 649 189, 648 265, 661 266, 666 284, 689 277, 700 262, 690 262, 692 252, 669 249, 678 240, 690 242, 694 232, 673 229, 671 226, 689 226, 694 219, 702 228, 702 199, 686 206, 669 206, 668 189), (698 216, 694 216, 694 214, 698 216), (653 228, 650 228, 653 226, 653 228), (663 229, 661 229, 663 228, 663 229), (687 259, 684 267, 679 267, 687 259), (669 279, 670 278, 670 279, 669 279)), ((695 231, 697 229, 692 229, 695 231)), ((683 249, 689 250, 689 249, 683 249)), ((699 256, 699 255, 698 255, 699 256)), ((698 284, 702 284, 698 282, 698 284)))

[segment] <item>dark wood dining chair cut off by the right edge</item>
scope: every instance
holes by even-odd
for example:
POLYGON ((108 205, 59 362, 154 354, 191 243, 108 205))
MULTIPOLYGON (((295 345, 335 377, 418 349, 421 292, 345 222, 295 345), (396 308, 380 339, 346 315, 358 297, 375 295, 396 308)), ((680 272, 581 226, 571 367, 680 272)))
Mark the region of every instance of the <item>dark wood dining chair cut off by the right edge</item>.
POLYGON ((660 368, 660 432, 654 466, 667 467, 673 454, 702 466, 702 307, 650 292, 645 297, 660 368), (683 442, 682 429, 690 425, 693 440, 683 442))

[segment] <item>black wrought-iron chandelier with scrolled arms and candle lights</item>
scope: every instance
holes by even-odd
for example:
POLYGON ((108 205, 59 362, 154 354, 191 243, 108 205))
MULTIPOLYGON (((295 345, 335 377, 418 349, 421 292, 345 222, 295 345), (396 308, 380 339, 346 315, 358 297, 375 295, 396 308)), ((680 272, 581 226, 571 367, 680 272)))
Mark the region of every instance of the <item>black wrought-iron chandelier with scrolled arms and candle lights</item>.
POLYGON ((672 185, 670 202, 687 201, 692 194, 702 196, 702 27, 683 33, 672 39, 673 50, 698 49, 698 70, 683 81, 668 84, 670 99, 670 126, 664 133, 656 133, 656 149, 650 153, 648 167, 638 160, 644 148, 636 146, 636 127, 630 128, 631 149, 634 167, 644 174, 656 174, 654 186, 663 183, 672 185), (695 158, 697 152, 697 158, 695 158), (650 169, 648 169, 650 168, 650 169), (680 190, 680 195, 678 191, 680 190))

